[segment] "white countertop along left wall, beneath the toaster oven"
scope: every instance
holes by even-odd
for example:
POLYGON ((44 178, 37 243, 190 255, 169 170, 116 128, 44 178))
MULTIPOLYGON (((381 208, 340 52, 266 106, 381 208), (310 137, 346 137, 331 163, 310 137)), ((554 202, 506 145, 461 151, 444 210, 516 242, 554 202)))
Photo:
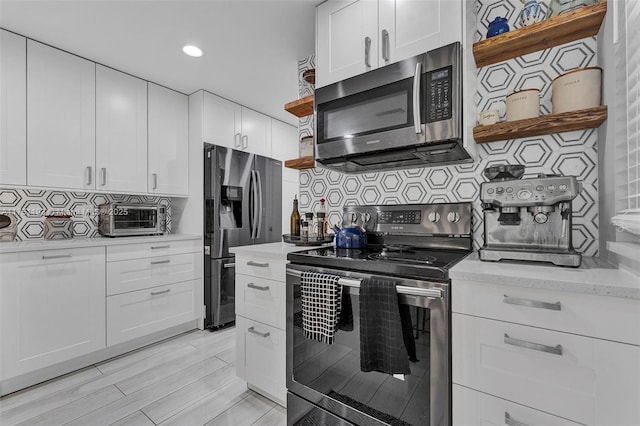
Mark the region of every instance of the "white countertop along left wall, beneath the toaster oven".
POLYGON ((29 240, 0 242, 0 254, 18 253, 35 250, 56 250, 81 247, 114 246, 120 244, 155 243, 162 241, 184 241, 200 239, 199 235, 168 234, 136 237, 95 237, 95 238, 70 238, 67 240, 29 240))

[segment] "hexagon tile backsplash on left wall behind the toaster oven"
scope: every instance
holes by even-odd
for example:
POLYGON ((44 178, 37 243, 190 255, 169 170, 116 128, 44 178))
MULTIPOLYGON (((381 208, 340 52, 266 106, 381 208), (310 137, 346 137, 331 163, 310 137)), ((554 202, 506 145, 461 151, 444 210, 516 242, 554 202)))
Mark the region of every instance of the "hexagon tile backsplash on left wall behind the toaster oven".
POLYGON ((114 201, 160 203, 167 206, 167 232, 171 232, 170 198, 0 188, 0 213, 13 213, 18 222, 16 241, 41 239, 45 215, 52 213, 73 216, 74 237, 98 237, 98 206, 114 201))

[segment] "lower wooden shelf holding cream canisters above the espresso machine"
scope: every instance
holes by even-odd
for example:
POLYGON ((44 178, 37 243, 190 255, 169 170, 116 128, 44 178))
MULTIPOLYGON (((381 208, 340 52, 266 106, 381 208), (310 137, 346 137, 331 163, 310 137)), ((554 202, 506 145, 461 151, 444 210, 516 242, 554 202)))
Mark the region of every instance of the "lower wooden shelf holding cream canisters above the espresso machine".
POLYGON ((594 129, 600 127, 606 119, 607 106, 603 105, 561 114, 547 114, 525 120, 477 126, 473 128, 473 137, 476 143, 528 138, 571 130, 594 129))

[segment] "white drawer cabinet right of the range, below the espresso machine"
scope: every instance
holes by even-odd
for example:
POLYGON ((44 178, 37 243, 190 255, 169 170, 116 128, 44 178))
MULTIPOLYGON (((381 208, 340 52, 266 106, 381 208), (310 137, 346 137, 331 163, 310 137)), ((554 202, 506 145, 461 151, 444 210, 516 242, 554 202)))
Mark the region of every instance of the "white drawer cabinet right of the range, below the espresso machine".
POLYGON ((640 301, 454 281, 453 424, 640 424, 640 301))

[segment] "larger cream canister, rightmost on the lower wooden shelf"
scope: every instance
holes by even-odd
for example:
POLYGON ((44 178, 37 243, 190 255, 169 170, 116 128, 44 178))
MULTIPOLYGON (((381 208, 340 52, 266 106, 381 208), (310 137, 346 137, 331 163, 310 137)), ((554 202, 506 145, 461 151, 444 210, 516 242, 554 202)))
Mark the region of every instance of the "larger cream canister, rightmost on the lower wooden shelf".
POLYGON ((551 83, 552 112, 575 111, 600 106, 602 68, 588 67, 564 73, 551 83))

